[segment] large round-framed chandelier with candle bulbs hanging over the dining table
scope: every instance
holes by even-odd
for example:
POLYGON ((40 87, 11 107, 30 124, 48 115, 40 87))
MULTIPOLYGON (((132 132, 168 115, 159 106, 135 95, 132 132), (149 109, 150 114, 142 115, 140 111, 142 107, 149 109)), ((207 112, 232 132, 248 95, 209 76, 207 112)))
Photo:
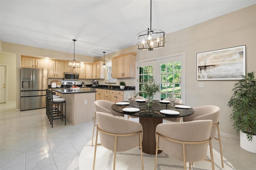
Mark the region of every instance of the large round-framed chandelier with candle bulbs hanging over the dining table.
POLYGON ((148 49, 148 51, 153 51, 154 49, 158 49, 166 45, 166 42, 164 41, 166 33, 161 30, 151 29, 151 6, 152 0, 150 0, 150 29, 148 28, 148 30, 140 32, 136 37, 138 39, 138 49, 148 49))

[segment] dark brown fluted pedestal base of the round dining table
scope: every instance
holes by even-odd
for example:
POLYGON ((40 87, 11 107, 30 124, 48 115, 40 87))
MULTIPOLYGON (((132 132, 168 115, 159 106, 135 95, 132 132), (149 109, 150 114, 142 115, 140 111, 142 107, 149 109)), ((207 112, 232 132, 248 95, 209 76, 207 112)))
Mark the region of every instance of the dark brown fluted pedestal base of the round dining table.
MULTIPOLYGON (((140 117, 143 128, 142 152, 146 154, 156 154, 156 126, 163 123, 162 118, 140 117)), ((158 154, 162 150, 158 150, 158 154)))

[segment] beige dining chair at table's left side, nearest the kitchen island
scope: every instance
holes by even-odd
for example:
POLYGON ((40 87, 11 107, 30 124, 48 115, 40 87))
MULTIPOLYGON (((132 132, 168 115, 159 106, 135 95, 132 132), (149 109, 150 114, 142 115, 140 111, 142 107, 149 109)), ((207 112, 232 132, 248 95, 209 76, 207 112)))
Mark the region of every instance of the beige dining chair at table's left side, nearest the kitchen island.
POLYGON ((95 113, 94 113, 94 126, 93 126, 93 131, 92 131, 92 145, 93 145, 93 138, 94 138, 94 130, 96 125, 96 112, 104 112, 104 113, 108 113, 111 115, 115 115, 117 117, 122 117, 124 118, 124 114, 122 113, 118 113, 116 111, 113 111, 111 109, 111 106, 115 104, 111 101, 107 101, 107 100, 96 100, 94 102, 94 108, 95 108, 95 113))

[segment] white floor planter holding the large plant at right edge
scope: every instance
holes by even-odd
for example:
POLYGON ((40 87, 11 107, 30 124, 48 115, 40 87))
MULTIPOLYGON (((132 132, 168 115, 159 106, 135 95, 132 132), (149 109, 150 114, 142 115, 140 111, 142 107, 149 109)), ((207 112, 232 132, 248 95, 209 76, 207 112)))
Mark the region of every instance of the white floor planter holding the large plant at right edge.
POLYGON ((240 131, 240 147, 248 152, 256 153, 256 135, 252 137, 252 141, 249 141, 246 133, 240 131))

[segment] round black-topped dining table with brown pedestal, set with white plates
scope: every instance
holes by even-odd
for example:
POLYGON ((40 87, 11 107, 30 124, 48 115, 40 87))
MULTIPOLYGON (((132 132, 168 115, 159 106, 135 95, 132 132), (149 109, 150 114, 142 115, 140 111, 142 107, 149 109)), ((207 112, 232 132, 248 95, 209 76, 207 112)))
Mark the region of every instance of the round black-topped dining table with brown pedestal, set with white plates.
MULTIPOLYGON (((139 122, 143 128, 142 152, 146 154, 156 154, 156 126, 163 123, 163 118, 177 118, 178 122, 182 122, 182 117, 194 113, 194 109, 186 107, 186 105, 173 103, 172 106, 168 101, 163 102, 154 100, 148 105, 143 100, 131 100, 130 103, 124 101, 112 105, 112 109, 118 113, 139 118, 139 122), (176 112, 174 113, 174 111, 176 112)), ((159 150, 158 154, 160 152, 162 151, 159 150)))

